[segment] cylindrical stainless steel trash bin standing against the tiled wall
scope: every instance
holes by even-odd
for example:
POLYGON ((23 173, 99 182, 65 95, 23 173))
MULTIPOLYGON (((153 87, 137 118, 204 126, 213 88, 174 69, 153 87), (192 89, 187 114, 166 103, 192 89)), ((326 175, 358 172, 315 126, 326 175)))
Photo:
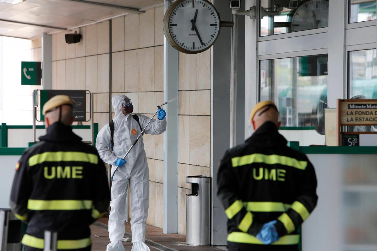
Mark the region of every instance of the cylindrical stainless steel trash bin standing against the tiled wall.
POLYGON ((187 176, 191 194, 186 195, 186 244, 210 245, 211 178, 187 176))

